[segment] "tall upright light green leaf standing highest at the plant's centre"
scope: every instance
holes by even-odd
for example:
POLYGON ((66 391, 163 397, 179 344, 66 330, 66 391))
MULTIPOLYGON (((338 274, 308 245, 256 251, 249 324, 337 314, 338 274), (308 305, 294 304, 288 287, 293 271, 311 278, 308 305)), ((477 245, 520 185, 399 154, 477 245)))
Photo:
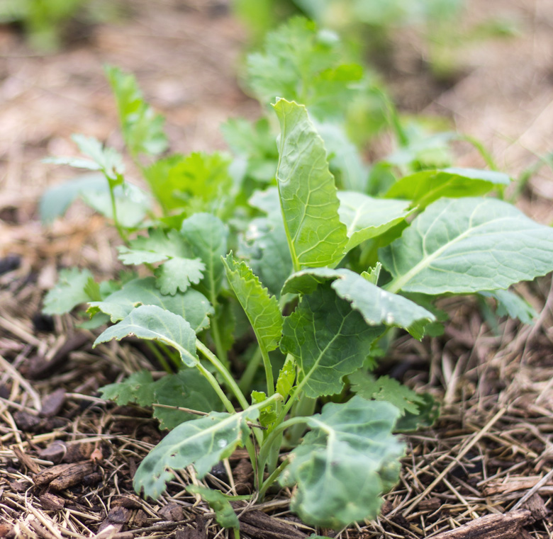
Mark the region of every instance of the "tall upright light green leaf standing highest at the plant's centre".
POLYGON ((344 254, 346 227, 326 150, 303 105, 279 99, 277 181, 294 267, 333 266, 344 254))

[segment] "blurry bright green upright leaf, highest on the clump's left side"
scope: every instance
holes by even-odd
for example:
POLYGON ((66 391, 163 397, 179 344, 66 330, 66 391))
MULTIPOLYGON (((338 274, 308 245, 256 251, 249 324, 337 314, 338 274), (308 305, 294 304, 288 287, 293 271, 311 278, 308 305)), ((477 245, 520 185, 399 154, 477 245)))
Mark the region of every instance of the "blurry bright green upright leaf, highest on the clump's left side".
POLYGON ((106 66, 106 76, 116 97, 125 144, 131 154, 157 155, 167 149, 164 118, 148 105, 132 74, 106 66))

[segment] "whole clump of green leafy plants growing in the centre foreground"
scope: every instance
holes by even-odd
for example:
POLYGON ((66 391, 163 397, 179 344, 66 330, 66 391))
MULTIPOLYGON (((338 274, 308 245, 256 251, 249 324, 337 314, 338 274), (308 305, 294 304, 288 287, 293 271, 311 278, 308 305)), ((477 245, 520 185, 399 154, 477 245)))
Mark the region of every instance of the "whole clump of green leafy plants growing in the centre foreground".
MULTIPOLYGON (((226 127, 235 157, 159 159, 162 119, 132 76, 108 75, 150 193, 125 181, 116 152, 77 137, 86 159, 57 162, 104 183, 80 178, 65 199, 47 193, 42 211, 52 219, 82 197, 118 227, 122 263, 149 275, 96 283, 86 269, 65 271, 45 311, 87 302, 89 324, 111 323, 95 346, 134 335, 167 370, 102 390, 119 404, 155 404, 172 429, 138 467, 135 489, 157 498, 175 470, 192 465, 202 478, 244 446, 252 496, 294 487, 291 509, 326 528, 374 518, 398 480, 404 448, 393 432, 435 413, 428 396, 372 375, 375 349, 392 331, 436 334, 443 295, 491 296, 527 316, 508 288, 553 270, 552 229, 484 196, 509 183, 496 171, 410 170, 378 196, 365 171, 337 188, 331 170, 343 172, 344 161, 318 132, 330 116, 286 98, 272 106, 276 149, 266 144, 270 120, 235 121, 226 127), (263 137, 250 144, 255 132, 263 137)), ((231 495, 189 492, 238 528, 231 495)))

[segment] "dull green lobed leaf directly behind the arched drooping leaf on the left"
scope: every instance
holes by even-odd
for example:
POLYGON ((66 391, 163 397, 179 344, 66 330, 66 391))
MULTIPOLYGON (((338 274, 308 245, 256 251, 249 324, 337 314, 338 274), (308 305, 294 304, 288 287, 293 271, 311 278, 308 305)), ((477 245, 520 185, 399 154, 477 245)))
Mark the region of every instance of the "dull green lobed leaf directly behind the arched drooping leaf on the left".
POLYGON ((105 312, 111 322, 122 320, 138 305, 156 305, 186 319, 198 333, 209 327, 209 315, 213 314, 207 298, 198 290, 189 289, 186 293, 163 295, 155 286, 155 278, 133 279, 125 283, 121 290, 108 295, 103 301, 90 302, 89 312, 105 312))

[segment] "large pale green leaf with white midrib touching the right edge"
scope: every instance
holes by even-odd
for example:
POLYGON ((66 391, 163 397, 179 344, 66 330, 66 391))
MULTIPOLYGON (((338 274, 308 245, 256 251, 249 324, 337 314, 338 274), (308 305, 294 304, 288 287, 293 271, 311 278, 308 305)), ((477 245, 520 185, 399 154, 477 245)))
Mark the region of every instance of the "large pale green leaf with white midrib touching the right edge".
POLYGON ((379 253, 393 292, 496 290, 553 270, 553 229, 501 200, 442 199, 379 253))

